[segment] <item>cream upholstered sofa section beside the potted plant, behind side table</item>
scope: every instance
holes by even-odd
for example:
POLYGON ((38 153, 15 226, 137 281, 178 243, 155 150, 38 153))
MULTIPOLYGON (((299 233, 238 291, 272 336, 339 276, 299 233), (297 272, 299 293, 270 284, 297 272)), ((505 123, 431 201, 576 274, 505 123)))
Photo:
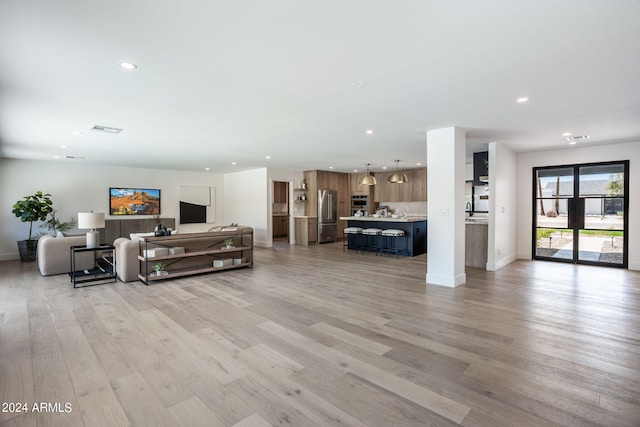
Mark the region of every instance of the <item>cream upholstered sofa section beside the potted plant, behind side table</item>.
MULTIPOLYGON (((63 274, 71 271, 71 246, 86 244, 86 236, 42 236, 38 239, 36 258, 38 270, 43 276, 63 274)), ((85 270, 95 267, 95 252, 82 252, 76 254, 76 270, 85 270)))

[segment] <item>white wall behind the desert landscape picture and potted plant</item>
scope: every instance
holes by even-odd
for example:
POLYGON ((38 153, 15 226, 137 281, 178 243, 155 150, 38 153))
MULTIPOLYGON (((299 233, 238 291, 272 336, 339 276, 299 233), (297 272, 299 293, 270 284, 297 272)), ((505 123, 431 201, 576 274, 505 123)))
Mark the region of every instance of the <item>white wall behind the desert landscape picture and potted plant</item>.
MULTIPOLYGON (((213 224, 180 225, 178 187, 216 187, 216 223, 224 223, 224 179, 222 174, 97 166, 68 161, 27 161, 0 159, 0 260, 18 259, 16 241, 25 240, 29 224, 12 213, 13 204, 36 191, 51 193, 57 217, 68 221, 78 212, 109 212, 110 187, 159 188, 161 216, 175 218, 179 231, 205 231, 213 224)), ((114 218, 107 215, 107 218, 114 218)), ((148 216, 146 216, 148 218, 148 216)), ((34 232, 42 231, 34 225, 34 232)), ((151 230, 150 230, 151 231, 151 230)))

